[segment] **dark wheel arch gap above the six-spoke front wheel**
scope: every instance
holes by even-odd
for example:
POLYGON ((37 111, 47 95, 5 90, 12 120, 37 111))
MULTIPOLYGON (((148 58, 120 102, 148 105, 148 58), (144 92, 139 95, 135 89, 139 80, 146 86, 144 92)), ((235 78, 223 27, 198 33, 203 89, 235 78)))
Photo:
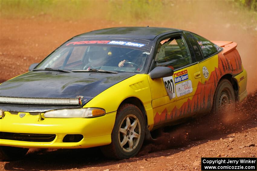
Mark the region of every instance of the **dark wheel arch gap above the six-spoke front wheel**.
POLYGON ((148 125, 148 118, 147 118, 147 115, 146 115, 145 107, 144 107, 144 105, 143 105, 143 103, 142 103, 142 101, 141 101, 140 99, 138 99, 137 97, 128 97, 128 98, 124 99, 124 100, 120 103, 118 109, 119 109, 120 106, 121 106, 122 104, 124 104, 124 103, 129 103, 129 104, 132 104, 132 105, 137 106, 137 107, 141 110, 141 112, 143 113, 143 115, 144 115, 146 126, 148 125))

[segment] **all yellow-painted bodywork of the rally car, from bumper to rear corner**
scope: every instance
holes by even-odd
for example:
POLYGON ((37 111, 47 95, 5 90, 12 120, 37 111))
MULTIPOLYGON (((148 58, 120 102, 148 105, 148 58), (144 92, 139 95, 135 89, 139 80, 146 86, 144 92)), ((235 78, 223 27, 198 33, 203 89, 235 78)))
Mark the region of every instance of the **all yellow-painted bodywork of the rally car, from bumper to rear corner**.
MULTIPOLYGON (((148 129, 154 127, 154 116, 156 113, 161 114, 164 109, 171 112, 175 107, 181 106, 192 100, 196 95, 197 86, 200 83, 205 83, 209 80, 212 71, 218 67, 218 55, 214 55, 199 64, 180 69, 174 72, 178 74, 181 71, 187 70, 188 79, 175 83, 175 97, 170 99, 167 90, 164 87, 162 78, 151 79, 149 74, 136 74, 118 84, 109 87, 83 107, 102 108, 106 110, 106 115, 96 118, 44 118, 38 115, 31 115, 26 112, 23 118, 10 112, 5 112, 5 116, 0 119, 0 131, 2 132, 19 132, 19 133, 34 133, 34 134, 56 134, 56 138, 52 142, 26 142, 13 140, 0 140, 1 145, 14 147, 37 147, 37 148, 86 148, 95 147, 111 143, 111 133, 115 124, 116 112, 120 104, 129 97, 138 98, 146 111, 148 129), (209 77, 204 78, 203 66, 207 67, 209 77), (177 96, 176 86, 185 81, 191 81, 192 92, 186 95, 177 96), (62 140, 67 134, 82 134, 83 139, 76 143, 63 143, 62 140)), ((239 94, 243 98, 246 91, 247 74, 243 70, 242 73, 235 76, 239 85, 239 94), (241 79, 244 77, 244 79, 241 79)), ((24 112, 22 112, 24 113, 24 112)), ((179 115, 179 114, 178 114, 179 115)), ((177 116, 178 119, 184 116, 177 116)))

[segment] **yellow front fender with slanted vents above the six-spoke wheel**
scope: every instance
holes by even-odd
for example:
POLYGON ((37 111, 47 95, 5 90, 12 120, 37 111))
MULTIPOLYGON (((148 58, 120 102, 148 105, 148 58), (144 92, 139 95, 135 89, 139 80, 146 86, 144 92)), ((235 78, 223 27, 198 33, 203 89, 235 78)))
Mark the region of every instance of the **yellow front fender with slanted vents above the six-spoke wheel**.
POLYGON ((151 91, 148 75, 136 74, 103 91, 83 107, 96 107, 106 110, 106 113, 117 111, 123 100, 129 97, 138 98, 144 105, 148 119, 148 129, 153 127, 153 110, 151 107, 151 91))

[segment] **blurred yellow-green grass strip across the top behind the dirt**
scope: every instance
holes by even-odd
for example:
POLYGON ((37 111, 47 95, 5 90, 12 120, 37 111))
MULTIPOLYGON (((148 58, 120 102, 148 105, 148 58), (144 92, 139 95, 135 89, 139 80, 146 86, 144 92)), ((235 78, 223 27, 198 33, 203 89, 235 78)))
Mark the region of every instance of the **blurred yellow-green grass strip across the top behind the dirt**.
MULTIPOLYGON (((0 13, 1 17, 9 18, 101 19, 122 24, 141 21, 165 23, 164 19, 166 19, 166 21, 181 21, 182 24, 185 18, 191 20, 197 18, 198 9, 204 3, 206 4, 204 1, 176 0, 0 0, 0 13)), ((208 3, 210 6, 217 6, 217 10, 229 4, 237 7, 244 6, 242 8, 244 11, 247 11, 247 8, 257 11, 257 0, 210 1, 208 3)))

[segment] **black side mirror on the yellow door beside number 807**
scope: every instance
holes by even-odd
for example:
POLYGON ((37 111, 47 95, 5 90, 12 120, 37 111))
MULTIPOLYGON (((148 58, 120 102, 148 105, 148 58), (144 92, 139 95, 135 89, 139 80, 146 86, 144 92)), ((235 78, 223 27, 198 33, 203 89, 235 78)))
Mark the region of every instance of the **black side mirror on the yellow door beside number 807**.
POLYGON ((174 71, 171 68, 161 66, 155 67, 152 71, 149 72, 151 79, 169 77, 173 74, 174 71))

